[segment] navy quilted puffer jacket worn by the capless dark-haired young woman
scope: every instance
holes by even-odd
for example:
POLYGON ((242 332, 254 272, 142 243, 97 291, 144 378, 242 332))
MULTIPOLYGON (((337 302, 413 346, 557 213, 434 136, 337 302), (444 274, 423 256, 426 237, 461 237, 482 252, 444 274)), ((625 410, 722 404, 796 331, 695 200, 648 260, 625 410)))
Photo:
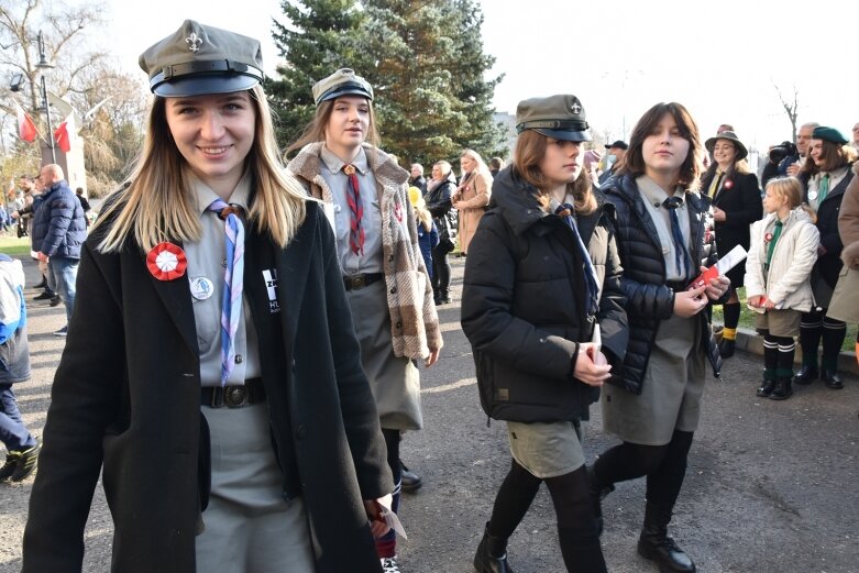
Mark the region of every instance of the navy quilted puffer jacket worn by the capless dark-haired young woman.
MULTIPOLYGON (((620 280, 627 296, 629 320, 629 346, 624 362, 621 388, 641 394, 650 361, 650 349, 657 338, 662 320, 674 312, 674 291, 665 284, 665 260, 659 242, 659 232, 650 218, 635 177, 625 174, 612 179, 603 190, 606 199, 617 211, 617 249, 624 277, 620 280)), ((687 192, 692 260, 701 266, 711 266, 718 261, 713 238, 713 216, 709 202, 697 192, 687 192)), ((726 296, 718 301, 723 304, 726 296)), ((706 312, 698 312, 704 351, 707 353, 713 374, 719 376, 722 357, 707 321, 706 312)), ((616 384, 614 376, 609 383, 616 384)))

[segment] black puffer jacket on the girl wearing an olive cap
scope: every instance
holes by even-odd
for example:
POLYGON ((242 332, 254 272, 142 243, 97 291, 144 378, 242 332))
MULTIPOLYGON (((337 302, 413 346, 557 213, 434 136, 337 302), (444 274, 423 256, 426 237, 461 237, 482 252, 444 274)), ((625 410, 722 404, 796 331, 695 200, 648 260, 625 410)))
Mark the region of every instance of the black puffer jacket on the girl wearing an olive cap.
POLYGON ((537 190, 511 166, 498 173, 492 194, 495 207, 469 247, 462 295, 484 411, 522 422, 587 419, 599 389, 571 375, 579 343, 591 341, 598 322, 615 372, 627 344, 612 207, 577 218, 602 289, 597 315, 588 316, 573 230, 540 207, 537 190))

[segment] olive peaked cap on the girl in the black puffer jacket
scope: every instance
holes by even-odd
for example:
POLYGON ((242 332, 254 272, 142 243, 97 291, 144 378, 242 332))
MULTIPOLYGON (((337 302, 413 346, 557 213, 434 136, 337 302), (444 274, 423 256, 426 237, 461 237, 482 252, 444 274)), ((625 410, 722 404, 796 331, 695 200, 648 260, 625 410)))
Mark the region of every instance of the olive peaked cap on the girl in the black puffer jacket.
POLYGON ((516 131, 533 130, 562 141, 591 141, 585 109, 575 96, 531 98, 516 108, 516 131))

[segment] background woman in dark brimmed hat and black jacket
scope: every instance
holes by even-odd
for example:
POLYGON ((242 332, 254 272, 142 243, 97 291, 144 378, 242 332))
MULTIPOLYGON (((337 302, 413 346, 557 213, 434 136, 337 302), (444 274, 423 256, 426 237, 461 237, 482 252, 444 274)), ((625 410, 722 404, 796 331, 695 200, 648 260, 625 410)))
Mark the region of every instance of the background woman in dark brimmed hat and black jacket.
MULTIPOLYGON (((701 189, 713 202, 716 221, 716 250, 726 255, 737 245, 749 250, 749 228, 763 217, 758 176, 749 173, 746 161, 749 152, 733 131, 724 131, 705 143, 713 156, 701 179, 701 189)), ((734 355, 737 324, 740 321, 740 299, 737 288, 742 286, 746 264, 740 263, 727 273, 730 279, 730 297, 722 307, 725 328, 722 330, 719 353, 723 359, 734 355)))

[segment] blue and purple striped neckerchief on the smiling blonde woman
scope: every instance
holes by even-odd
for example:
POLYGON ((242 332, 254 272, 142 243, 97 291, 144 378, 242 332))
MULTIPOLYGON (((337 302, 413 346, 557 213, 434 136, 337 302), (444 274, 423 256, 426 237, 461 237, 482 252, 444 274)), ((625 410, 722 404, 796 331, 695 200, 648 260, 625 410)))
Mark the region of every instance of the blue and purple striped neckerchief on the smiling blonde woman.
POLYGON ((223 219, 227 233, 227 268, 223 273, 223 298, 221 299, 221 386, 235 365, 235 331, 242 310, 242 287, 244 283, 244 225, 236 208, 216 199, 208 208, 223 219))

